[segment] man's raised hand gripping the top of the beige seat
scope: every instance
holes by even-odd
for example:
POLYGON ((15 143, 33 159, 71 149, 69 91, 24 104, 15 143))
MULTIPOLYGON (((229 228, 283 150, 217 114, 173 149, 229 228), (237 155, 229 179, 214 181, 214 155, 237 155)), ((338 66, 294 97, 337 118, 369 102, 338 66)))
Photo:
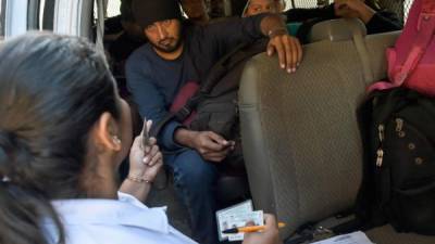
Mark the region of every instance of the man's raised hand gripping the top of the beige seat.
POLYGON ((278 54, 279 67, 295 73, 302 60, 302 47, 297 38, 288 34, 272 35, 268 43, 268 55, 278 54))

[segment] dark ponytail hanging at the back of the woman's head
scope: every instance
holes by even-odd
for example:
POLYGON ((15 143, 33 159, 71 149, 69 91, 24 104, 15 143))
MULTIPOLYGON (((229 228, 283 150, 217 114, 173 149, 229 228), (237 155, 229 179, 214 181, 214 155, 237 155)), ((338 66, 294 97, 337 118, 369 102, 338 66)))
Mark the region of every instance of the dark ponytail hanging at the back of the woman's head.
POLYGON ((32 160, 26 145, 8 131, 0 130, 0 243, 48 244, 65 243, 64 231, 50 200, 35 189, 25 188, 29 182, 16 167, 21 160, 32 160), (58 240, 49 240, 42 221, 51 221, 58 240))

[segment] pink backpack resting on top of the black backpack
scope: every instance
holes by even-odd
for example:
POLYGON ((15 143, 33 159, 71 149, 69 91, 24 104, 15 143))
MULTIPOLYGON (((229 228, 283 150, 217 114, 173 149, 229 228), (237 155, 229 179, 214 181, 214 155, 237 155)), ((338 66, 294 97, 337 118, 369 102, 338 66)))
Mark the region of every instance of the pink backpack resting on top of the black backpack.
POLYGON ((435 97, 435 0, 414 0, 402 34, 394 48, 387 49, 388 81, 372 90, 405 86, 435 97))

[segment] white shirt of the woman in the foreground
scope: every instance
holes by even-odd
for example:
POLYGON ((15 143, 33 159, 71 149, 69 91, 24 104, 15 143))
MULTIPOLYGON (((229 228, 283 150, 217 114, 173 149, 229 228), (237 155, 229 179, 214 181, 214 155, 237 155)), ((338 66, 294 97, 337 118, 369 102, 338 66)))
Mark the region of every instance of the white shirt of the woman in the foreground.
MULTIPOLYGON (((148 208, 132 195, 119 200, 53 201, 61 217, 66 244, 195 244, 167 222, 163 208, 148 208)), ((58 235, 52 221, 45 221, 48 236, 58 235)))

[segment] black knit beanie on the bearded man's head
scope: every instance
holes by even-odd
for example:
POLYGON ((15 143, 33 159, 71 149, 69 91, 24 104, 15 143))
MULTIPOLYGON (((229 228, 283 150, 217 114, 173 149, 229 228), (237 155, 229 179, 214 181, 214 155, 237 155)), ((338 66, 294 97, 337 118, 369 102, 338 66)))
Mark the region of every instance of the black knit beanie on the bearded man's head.
POLYGON ((137 24, 142 28, 156 22, 182 20, 177 0, 133 0, 132 11, 137 24))

